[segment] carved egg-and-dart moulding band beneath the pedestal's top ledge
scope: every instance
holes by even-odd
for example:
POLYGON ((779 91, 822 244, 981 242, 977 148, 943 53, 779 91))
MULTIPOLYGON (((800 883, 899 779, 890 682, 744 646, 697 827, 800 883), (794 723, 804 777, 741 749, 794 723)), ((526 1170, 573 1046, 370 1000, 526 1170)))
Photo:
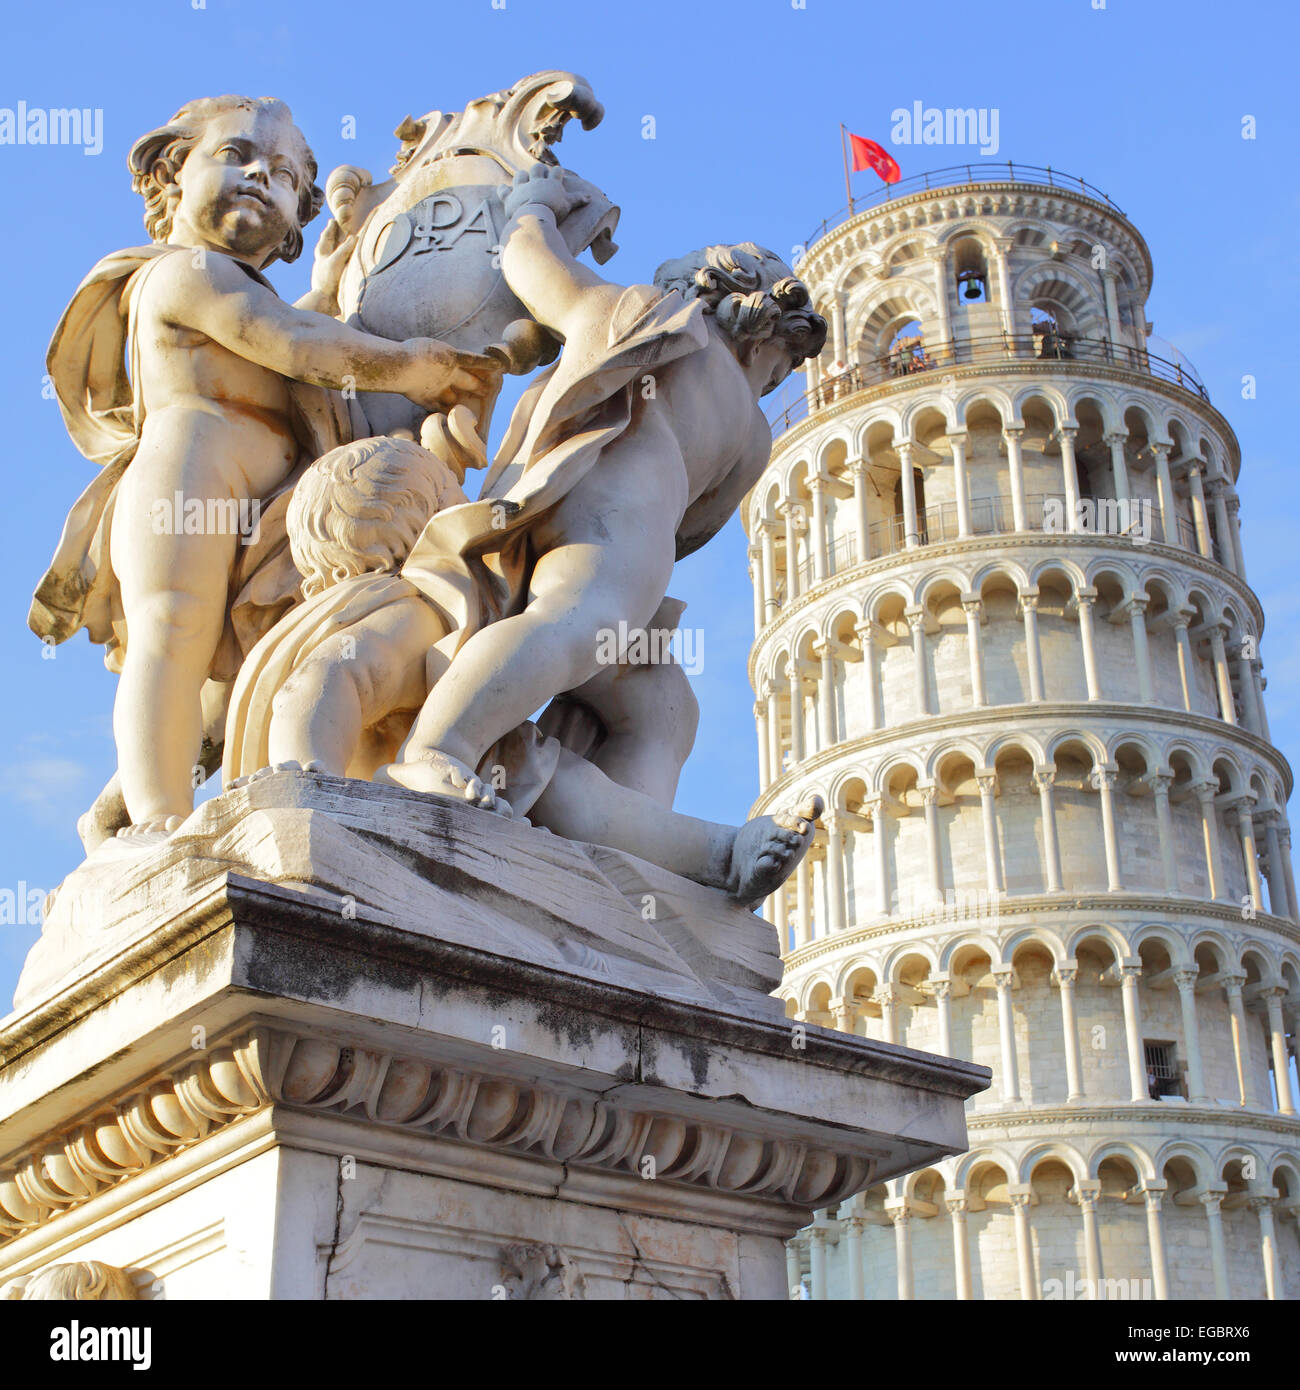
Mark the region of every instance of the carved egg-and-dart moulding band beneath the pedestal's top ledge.
POLYGON ((656 1113, 613 1093, 564 1091, 256 1027, 11 1158, 0 1169, 0 1243, 271 1106, 802 1207, 861 1191, 875 1166, 730 1123, 656 1113))

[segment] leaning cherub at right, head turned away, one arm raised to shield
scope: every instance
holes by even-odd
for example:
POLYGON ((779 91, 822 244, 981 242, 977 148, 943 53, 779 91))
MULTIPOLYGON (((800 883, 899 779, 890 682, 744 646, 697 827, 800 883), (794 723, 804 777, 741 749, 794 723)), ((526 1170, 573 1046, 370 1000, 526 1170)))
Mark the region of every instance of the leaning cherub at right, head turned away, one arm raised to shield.
POLYGON ((574 259, 563 170, 514 179, 502 267, 564 342, 524 395, 477 503, 437 516, 407 573, 459 617, 455 651, 385 776, 459 795, 487 749, 640 630, 676 557, 705 543, 767 463, 758 400, 826 339, 772 252, 710 246, 623 288, 574 259))

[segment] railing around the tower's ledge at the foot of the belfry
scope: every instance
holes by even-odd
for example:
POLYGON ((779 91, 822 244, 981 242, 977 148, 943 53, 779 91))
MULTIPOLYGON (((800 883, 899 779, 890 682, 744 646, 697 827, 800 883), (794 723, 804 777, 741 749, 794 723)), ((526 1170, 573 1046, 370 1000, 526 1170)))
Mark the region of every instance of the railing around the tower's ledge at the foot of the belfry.
POLYGON ((1071 338, 1065 334, 993 334, 984 338, 957 338, 944 343, 916 343, 855 363, 805 392, 772 420, 772 436, 783 435, 815 410, 870 391, 873 386, 951 367, 1000 361, 1078 361, 1123 367, 1175 386, 1210 404, 1210 392, 1186 361, 1169 361, 1146 348, 1114 343, 1107 338, 1071 338))

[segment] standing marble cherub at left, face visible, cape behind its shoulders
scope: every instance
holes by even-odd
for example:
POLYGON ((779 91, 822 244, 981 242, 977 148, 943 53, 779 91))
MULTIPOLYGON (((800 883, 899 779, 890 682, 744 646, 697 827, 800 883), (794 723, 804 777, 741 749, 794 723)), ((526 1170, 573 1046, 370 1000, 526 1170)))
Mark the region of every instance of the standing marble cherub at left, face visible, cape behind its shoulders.
POLYGON ((56 642, 86 627, 108 648, 122 795, 132 830, 154 831, 189 813, 204 684, 238 667, 231 599, 249 564, 222 514, 282 495, 350 438, 346 404, 318 388, 481 409, 499 368, 277 296, 261 271, 299 254, 323 197, 282 101, 192 101, 135 143, 129 165, 153 245, 95 267, 49 357, 68 432, 104 468, 68 517, 29 624, 56 642), (167 525, 177 498, 217 524, 192 531, 171 513, 167 525))

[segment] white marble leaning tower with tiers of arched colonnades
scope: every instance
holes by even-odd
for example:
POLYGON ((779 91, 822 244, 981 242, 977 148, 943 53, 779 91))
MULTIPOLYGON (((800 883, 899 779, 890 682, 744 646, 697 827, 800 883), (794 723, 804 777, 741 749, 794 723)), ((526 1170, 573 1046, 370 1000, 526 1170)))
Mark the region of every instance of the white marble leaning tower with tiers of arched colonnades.
POLYGON ((831 334, 744 513, 755 810, 827 802, 767 915, 794 1019, 993 1087, 969 1152, 819 1212, 791 1284, 1294 1298, 1292 773, 1237 441, 1105 195, 881 193, 799 267, 831 334))

